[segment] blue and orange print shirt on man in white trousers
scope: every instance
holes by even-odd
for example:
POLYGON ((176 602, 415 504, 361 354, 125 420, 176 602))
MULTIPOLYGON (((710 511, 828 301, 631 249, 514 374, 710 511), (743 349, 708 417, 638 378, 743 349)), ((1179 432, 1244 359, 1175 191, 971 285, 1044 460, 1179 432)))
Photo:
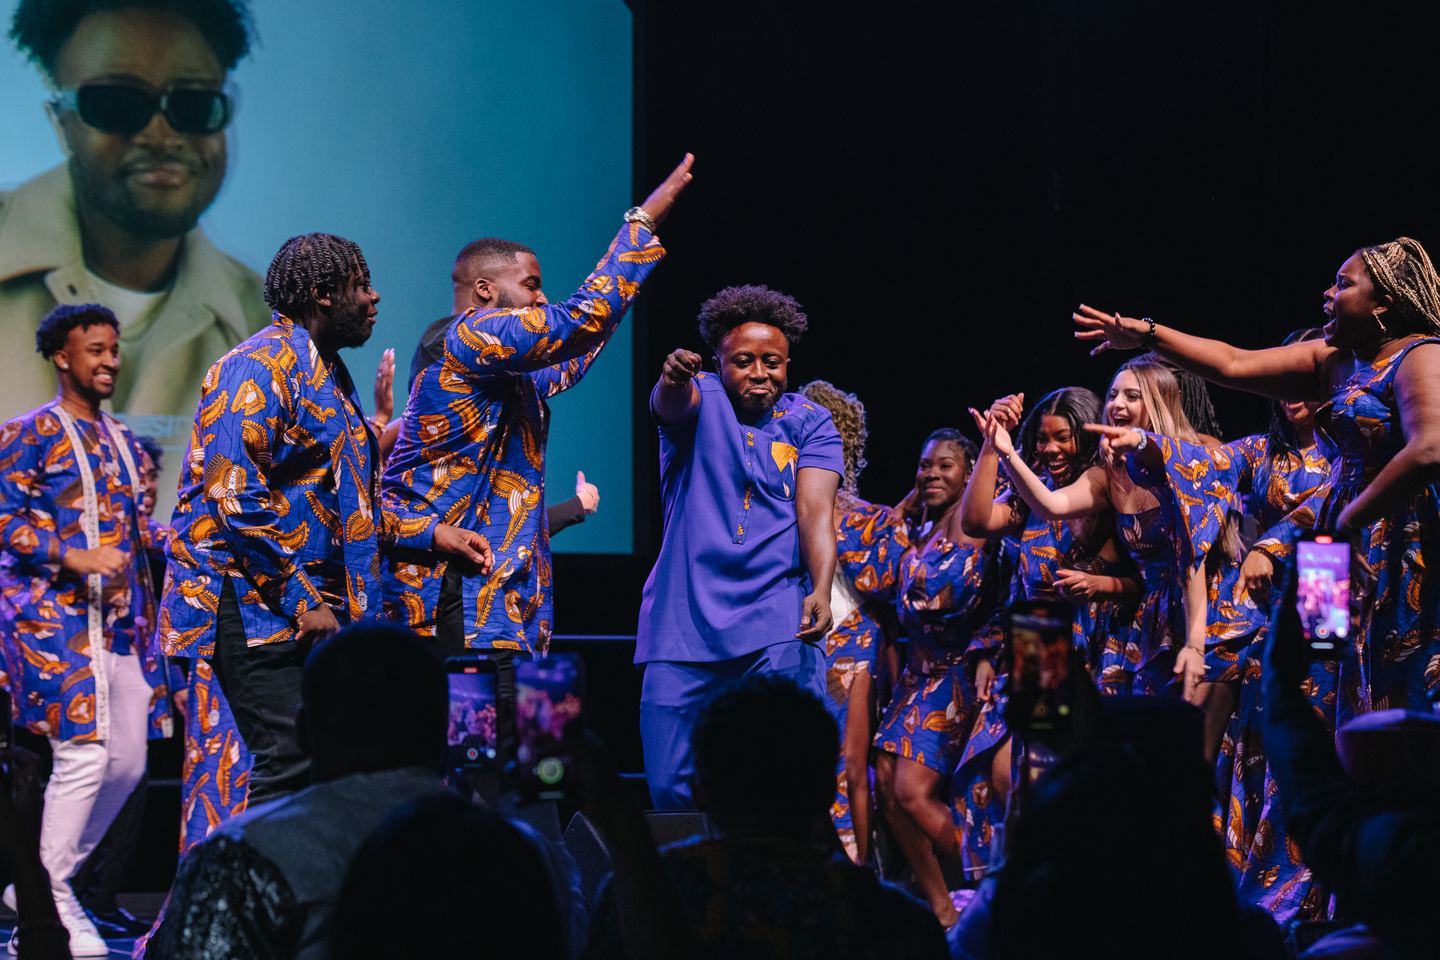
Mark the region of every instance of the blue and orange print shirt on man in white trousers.
POLYGON ((135 510, 140 459, 122 423, 81 420, 58 402, 0 429, 0 684, 10 688, 12 720, 36 734, 108 738, 109 688, 96 685, 104 661, 91 656, 92 643, 147 658, 150 730, 168 733, 164 669, 148 656, 156 613, 151 528, 135 510), (109 579, 60 566, 66 551, 95 547, 122 550, 131 563, 109 579))

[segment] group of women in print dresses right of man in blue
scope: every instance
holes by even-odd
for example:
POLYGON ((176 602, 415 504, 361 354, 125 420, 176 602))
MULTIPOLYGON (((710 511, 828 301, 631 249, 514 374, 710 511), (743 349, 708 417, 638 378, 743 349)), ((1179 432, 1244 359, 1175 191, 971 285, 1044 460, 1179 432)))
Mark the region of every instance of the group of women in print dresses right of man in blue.
POLYGON ((845 443, 825 658, 844 731, 832 818, 857 862, 874 858, 878 815, 945 924, 958 914, 937 853, 972 878, 1002 862, 1025 746, 1005 723, 999 615, 1011 600, 1066 600, 1103 694, 1204 711, 1215 828, 1240 894, 1280 923, 1326 915, 1266 761, 1260 651, 1296 541, 1331 531, 1354 544, 1359 632, 1344 659, 1313 664, 1310 704, 1332 730, 1365 711, 1431 708, 1440 278, 1408 237, 1365 248, 1325 312, 1323 330, 1238 350, 1081 307, 1076 335, 1096 353, 1146 353, 1103 397, 1068 386, 971 410, 979 448, 937 429, 893 508, 857 497, 860 400, 802 387, 845 443), (1221 442, 1202 380, 1270 399, 1269 430, 1221 442))

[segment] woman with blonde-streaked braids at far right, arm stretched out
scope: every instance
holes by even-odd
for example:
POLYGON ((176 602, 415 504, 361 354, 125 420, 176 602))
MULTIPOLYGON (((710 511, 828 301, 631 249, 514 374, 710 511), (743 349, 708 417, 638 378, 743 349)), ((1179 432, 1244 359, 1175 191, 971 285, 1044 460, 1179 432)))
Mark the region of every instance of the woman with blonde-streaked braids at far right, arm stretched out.
MULTIPOLYGON (((1313 508, 1316 530, 1356 548, 1361 622, 1341 662, 1344 724, 1369 710, 1423 708, 1440 685, 1440 276, 1417 240, 1367 246, 1341 265, 1325 312, 1323 341, 1269 350, 1090 307, 1074 320, 1093 353, 1148 345, 1212 383, 1323 403, 1318 422, 1339 456, 1323 497, 1299 510, 1313 508)), ((1289 560, 1299 525, 1272 531, 1272 557, 1289 560)))

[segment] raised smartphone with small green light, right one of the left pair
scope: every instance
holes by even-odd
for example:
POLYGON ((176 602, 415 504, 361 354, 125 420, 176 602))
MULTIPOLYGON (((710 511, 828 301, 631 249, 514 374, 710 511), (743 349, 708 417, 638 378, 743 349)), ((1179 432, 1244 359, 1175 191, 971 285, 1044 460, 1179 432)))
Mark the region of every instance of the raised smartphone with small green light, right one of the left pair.
POLYGON ((516 664, 516 769, 521 802, 562 800, 575 793, 569 759, 560 753, 564 725, 580 715, 585 672, 562 653, 516 664))

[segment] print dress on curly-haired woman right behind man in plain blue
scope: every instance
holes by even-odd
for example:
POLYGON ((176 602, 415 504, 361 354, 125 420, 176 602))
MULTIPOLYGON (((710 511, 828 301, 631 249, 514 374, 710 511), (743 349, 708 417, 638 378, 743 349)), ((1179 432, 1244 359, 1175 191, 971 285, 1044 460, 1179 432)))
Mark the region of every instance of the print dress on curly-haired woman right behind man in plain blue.
MULTIPOLYGON (((835 534, 831 609, 837 616, 841 615, 835 606, 835 594, 841 594, 838 599, 845 602, 848 612, 825 635, 825 707, 840 725, 841 738, 850 721, 850 688, 855 682, 855 674, 870 674, 877 689, 893 682, 893 678, 884 676, 877 656, 881 649, 894 643, 899 633, 896 583, 900 557, 907 545, 904 525, 891 518, 888 507, 860 499, 841 520, 835 534)), ((829 816, 845 852, 854 859, 855 828, 850 818, 844 756, 835 767, 835 803, 829 807, 829 816)))

